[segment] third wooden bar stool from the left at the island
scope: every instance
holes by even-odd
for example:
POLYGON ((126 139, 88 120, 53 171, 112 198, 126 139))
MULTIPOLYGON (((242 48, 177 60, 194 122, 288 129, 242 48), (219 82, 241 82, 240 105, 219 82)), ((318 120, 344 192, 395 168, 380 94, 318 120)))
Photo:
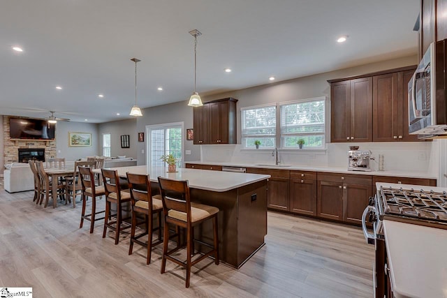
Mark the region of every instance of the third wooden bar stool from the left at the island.
POLYGON ((163 242, 161 240, 161 211, 163 211, 163 204, 161 203, 161 195, 152 196, 151 183, 149 175, 142 174, 127 174, 127 181, 129 182, 129 191, 131 193, 132 204, 132 228, 131 228, 131 244, 129 246, 129 255, 132 254, 133 242, 142 246, 147 246, 146 264, 151 262, 152 246, 156 246, 163 242), (146 231, 138 236, 135 236, 135 228, 137 224, 137 215, 143 214, 145 216, 146 231), (154 214, 158 216, 158 227, 154 228, 154 214), (159 237, 156 242, 152 243, 152 232, 158 231, 159 237), (147 235, 147 244, 140 241, 140 237, 147 235))

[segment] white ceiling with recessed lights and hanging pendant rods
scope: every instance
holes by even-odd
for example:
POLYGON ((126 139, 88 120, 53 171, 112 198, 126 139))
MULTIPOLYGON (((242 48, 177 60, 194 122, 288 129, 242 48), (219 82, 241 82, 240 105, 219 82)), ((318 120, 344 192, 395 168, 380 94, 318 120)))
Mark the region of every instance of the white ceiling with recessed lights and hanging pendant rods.
POLYGON ((187 100, 192 29, 203 33, 202 96, 409 56, 418 8, 419 0, 3 0, 0 114, 130 118, 133 57, 142 60, 140 107, 187 100), (336 43, 342 35, 346 43, 336 43))

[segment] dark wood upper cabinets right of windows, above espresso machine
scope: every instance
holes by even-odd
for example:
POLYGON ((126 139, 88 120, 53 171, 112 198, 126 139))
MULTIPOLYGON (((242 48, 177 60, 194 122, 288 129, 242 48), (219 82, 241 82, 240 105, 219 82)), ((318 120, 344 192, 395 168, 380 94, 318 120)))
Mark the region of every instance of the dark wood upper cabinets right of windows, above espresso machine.
POLYGON ((330 80, 331 142, 418 141, 408 131, 408 83, 416 66, 330 80))

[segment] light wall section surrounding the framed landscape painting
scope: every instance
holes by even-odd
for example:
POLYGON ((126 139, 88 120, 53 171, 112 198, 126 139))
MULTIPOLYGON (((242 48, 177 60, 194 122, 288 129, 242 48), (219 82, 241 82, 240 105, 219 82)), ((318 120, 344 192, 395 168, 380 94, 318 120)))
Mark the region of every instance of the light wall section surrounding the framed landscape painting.
POLYGON ((56 154, 66 161, 75 161, 85 156, 98 155, 98 124, 57 121, 56 154), (90 147, 69 147, 68 133, 91 133, 90 147))

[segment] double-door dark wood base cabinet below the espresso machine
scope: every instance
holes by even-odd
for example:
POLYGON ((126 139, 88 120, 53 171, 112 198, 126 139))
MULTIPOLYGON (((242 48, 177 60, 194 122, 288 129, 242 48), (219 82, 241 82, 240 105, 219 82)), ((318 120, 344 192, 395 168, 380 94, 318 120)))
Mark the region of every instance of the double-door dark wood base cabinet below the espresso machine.
POLYGON ((372 176, 322 172, 317 177, 317 216, 360 224, 372 195, 372 176))

